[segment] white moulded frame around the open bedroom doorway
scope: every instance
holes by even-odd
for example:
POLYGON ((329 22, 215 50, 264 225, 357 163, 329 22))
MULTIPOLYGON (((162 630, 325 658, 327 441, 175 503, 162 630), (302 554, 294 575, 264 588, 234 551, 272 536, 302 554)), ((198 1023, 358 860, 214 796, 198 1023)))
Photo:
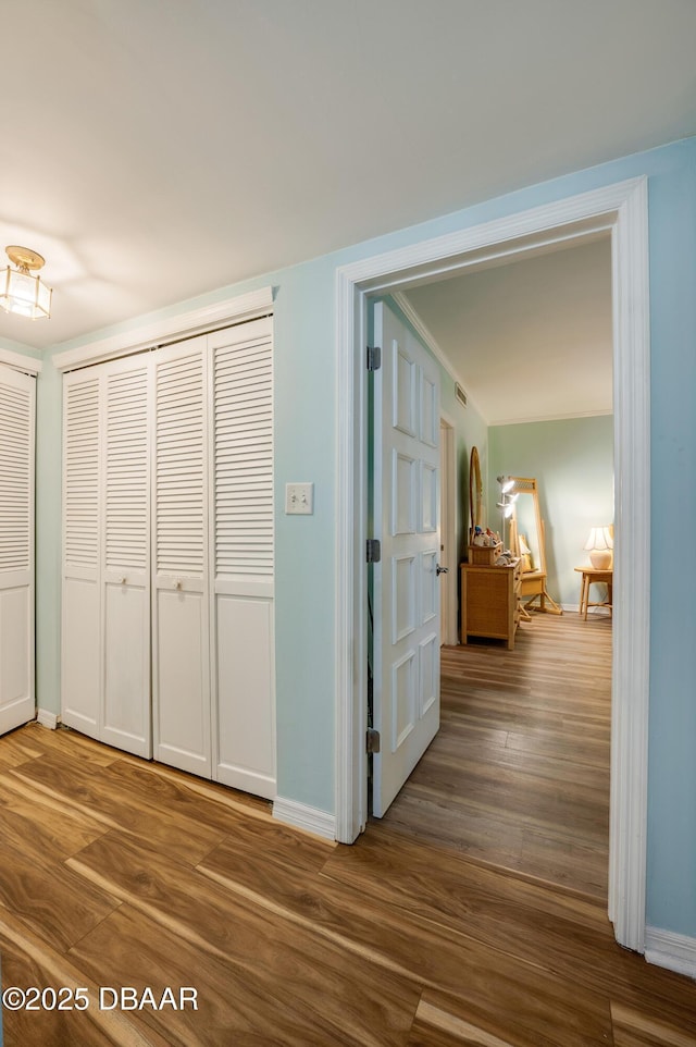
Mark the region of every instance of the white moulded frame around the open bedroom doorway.
POLYGON ((633 178, 371 256, 336 272, 336 838, 366 808, 366 295, 610 232, 616 527, 609 919, 644 951, 649 687, 647 178, 633 178))

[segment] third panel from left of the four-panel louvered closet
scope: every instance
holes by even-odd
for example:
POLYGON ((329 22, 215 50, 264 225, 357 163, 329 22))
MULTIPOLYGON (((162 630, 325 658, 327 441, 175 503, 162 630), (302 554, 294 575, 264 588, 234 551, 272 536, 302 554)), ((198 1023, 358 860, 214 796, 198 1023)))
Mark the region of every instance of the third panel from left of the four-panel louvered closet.
POLYGON ((157 760, 212 777, 204 336, 153 354, 157 760))

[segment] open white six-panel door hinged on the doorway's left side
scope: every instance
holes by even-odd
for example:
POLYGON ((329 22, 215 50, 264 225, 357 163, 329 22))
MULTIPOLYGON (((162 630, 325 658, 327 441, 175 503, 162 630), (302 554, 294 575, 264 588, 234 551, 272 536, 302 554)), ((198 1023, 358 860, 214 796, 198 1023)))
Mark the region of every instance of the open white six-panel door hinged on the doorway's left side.
POLYGON ((382 817, 439 727, 439 375, 405 323, 374 309, 372 813, 382 817))

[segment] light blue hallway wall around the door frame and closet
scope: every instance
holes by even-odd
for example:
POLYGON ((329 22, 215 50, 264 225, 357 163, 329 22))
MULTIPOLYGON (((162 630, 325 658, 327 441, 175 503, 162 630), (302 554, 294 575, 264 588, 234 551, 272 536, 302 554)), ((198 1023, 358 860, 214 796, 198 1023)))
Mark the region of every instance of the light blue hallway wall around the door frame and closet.
MULTIPOLYGON (((336 389, 336 267, 638 175, 649 178, 655 520, 647 915, 651 925, 696 936, 696 552, 688 541, 678 545, 666 540, 666 535, 680 535, 696 509, 692 482, 696 475, 696 140, 521 189, 282 273, 222 288, 198 304, 268 283, 278 286, 278 506, 286 481, 316 484, 313 517, 277 514, 278 780, 283 796, 331 811, 336 687, 335 406, 341 394, 336 389)), ((38 429, 42 485, 39 702, 57 710, 60 497, 52 470, 60 441, 60 385, 50 369, 39 385, 44 411, 38 429)))

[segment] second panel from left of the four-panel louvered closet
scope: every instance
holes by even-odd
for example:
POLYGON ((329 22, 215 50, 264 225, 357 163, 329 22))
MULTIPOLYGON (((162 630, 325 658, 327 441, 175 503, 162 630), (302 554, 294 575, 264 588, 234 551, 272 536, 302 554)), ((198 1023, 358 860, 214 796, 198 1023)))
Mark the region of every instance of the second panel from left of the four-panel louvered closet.
POLYGON ((150 712, 150 370, 103 369, 101 741, 152 755, 150 712))

